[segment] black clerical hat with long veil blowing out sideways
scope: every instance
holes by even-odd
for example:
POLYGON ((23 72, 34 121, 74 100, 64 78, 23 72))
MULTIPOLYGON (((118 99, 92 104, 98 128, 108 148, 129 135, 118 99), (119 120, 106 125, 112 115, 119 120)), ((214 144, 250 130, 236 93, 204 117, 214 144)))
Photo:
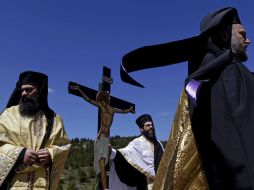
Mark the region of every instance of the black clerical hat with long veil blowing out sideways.
POLYGON ((226 7, 205 16, 200 24, 200 34, 184 40, 144 46, 133 50, 122 58, 121 79, 138 87, 144 87, 128 73, 188 61, 188 74, 196 71, 207 47, 210 34, 219 26, 240 23, 237 10, 226 7))

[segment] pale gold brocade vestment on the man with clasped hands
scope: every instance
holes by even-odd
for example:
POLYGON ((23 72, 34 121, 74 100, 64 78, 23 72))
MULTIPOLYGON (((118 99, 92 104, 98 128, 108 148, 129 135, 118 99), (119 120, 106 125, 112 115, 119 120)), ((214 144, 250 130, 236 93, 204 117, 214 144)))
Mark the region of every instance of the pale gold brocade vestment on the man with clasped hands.
MULTIPOLYGON (((1 185, 17 161, 23 148, 39 150, 46 133, 46 118, 40 113, 35 117, 22 117, 18 106, 6 109, 0 116, 0 189, 1 185)), ((70 149, 70 142, 63 128, 60 116, 54 117, 51 135, 45 148, 52 159, 52 168, 39 164, 27 166, 19 164, 15 168, 11 190, 51 190, 57 189, 60 175, 70 149), (49 184, 51 182, 51 184, 49 184)))

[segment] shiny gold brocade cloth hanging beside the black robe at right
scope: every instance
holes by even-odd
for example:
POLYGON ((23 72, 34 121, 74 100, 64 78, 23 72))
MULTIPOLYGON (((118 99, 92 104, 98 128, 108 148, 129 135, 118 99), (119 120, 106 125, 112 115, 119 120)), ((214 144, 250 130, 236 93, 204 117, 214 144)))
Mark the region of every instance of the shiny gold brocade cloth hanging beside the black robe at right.
POLYGON ((208 190, 183 91, 153 190, 208 190))

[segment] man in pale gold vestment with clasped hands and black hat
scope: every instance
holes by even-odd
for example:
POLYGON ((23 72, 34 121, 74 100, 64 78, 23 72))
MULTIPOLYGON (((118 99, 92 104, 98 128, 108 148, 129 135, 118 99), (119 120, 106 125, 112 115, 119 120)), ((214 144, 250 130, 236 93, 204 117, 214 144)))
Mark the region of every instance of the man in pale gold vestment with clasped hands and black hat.
POLYGON ((21 73, 0 115, 0 189, 57 189, 70 146, 48 106, 47 75, 21 73))

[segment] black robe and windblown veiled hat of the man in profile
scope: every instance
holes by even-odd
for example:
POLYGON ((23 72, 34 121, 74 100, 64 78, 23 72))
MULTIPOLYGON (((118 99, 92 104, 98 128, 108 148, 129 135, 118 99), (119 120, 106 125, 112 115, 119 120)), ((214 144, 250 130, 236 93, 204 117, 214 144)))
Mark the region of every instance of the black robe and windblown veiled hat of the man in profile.
POLYGON ((254 76, 230 50, 210 41, 218 26, 241 23, 226 7, 205 16, 199 36, 129 52, 122 80, 143 87, 128 73, 188 61, 189 77, 201 82, 197 106, 190 100, 192 130, 210 189, 254 189, 254 76))

